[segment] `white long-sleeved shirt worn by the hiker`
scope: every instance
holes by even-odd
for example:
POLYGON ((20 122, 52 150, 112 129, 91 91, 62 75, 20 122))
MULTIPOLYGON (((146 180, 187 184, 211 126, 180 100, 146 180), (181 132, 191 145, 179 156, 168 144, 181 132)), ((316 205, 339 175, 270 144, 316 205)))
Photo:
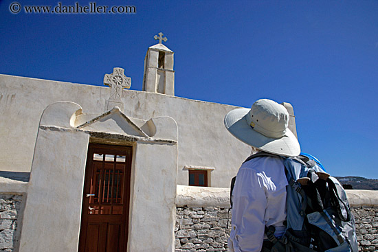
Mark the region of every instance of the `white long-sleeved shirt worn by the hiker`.
POLYGON ((280 157, 256 157, 243 163, 232 192, 230 252, 259 252, 265 226, 276 227, 274 235, 285 232, 285 166, 280 157))

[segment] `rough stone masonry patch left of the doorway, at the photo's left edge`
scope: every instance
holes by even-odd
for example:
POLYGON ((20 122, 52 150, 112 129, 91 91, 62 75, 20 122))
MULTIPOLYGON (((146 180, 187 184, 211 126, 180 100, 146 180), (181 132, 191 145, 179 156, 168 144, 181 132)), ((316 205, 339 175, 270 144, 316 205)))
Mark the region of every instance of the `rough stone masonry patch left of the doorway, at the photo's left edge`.
POLYGON ((0 194, 0 251, 14 251, 22 195, 0 194))

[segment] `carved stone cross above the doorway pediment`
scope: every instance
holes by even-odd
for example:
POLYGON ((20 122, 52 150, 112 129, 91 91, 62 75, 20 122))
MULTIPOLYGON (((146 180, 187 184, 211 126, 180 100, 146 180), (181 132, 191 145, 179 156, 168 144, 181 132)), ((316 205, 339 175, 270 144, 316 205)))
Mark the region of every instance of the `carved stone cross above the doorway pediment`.
POLYGON ((105 104, 105 110, 109 111, 114 106, 119 106, 123 110, 122 89, 130 89, 131 78, 124 75, 124 69, 120 67, 114 67, 113 73, 105 74, 104 85, 111 88, 110 98, 105 104))

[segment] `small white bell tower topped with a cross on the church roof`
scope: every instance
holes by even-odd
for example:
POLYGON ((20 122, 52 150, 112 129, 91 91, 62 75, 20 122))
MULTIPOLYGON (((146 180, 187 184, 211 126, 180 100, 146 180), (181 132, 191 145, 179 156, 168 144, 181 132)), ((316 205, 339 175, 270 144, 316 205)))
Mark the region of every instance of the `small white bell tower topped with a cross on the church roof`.
POLYGON ((162 44, 168 39, 155 35, 159 43, 148 48, 144 58, 143 91, 175 95, 175 71, 173 70, 173 51, 162 44))

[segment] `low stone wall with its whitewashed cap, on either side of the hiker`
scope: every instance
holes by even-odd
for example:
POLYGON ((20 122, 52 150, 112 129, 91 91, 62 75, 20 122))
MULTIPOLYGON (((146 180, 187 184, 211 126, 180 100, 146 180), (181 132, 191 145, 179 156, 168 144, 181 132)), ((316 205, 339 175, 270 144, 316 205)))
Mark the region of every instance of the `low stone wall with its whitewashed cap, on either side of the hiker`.
MULTIPOLYGON (((378 194, 347 190, 359 251, 378 252, 378 194)), ((228 251, 230 190, 177 185, 175 252, 228 251)))

